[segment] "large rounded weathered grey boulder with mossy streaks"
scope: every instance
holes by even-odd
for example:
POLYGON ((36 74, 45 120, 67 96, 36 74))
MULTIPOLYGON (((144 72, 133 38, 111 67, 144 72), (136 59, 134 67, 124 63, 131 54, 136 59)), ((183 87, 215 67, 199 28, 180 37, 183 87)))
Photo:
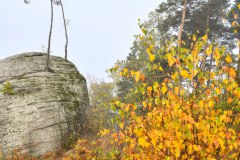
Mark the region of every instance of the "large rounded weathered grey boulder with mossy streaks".
POLYGON ((79 129, 89 104, 86 80, 60 57, 24 53, 0 60, 0 150, 21 147, 35 155, 60 148, 79 129))

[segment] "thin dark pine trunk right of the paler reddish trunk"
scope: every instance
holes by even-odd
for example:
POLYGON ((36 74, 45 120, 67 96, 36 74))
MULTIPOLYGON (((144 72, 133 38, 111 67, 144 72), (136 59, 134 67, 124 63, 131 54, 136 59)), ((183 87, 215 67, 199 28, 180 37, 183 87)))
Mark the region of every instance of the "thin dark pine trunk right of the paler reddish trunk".
MULTIPOLYGON (((207 19, 206 19, 206 35, 208 36, 209 33, 209 20, 210 20, 210 3, 211 0, 208 0, 208 8, 207 8, 207 19)), ((207 45, 204 45, 204 51, 203 51, 203 61, 202 61, 202 71, 205 71, 206 68, 206 59, 207 59, 207 45)))

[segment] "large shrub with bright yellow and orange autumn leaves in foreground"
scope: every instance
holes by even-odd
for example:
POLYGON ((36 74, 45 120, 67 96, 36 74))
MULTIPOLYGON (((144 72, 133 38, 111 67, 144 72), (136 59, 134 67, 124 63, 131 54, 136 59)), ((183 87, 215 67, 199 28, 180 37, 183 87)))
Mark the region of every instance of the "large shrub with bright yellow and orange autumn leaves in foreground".
MULTIPOLYGON (((121 159, 239 157, 240 86, 235 81, 237 71, 232 65, 232 56, 225 53, 224 47, 207 44, 206 39, 204 36, 195 40, 191 49, 168 43, 163 57, 172 72, 161 84, 157 81, 149 85, 144 83, 144 78, 140 78, 140 75, 145 77, 141 71, 129 70, 128 73, 133 74, 122 75, 135 79, 134 92, 141 93, 142 99, 134 104, 113 103, 119 113, 116 119, 120 127, 107 134, 115 145, 121 146, 121 159), (216 65, 203 70, 196 62, 202 61, 201 52, 205 45, 214 48, 206 56, 213 57, 211 63, 216 65), (181 63, 178 63, 178 57, 181 63), (114 138, 113 135, 119 133, 121 139, 114 138)), ((154 46, 149 46, 147 54, 152 54, 152 48, 154 46)), ((149 58, 149 63, 154 63, 151 56, 149 58)))

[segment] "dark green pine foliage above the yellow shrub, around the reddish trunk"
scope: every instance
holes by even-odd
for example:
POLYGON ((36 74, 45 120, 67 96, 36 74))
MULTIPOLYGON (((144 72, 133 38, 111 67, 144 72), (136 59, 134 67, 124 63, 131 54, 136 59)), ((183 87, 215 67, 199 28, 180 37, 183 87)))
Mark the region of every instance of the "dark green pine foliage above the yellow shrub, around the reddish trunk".
MULTIPOLYGON (((177 37, 182 18, 183 0, 167 0, 159 5, 156 11, 162 15, 158 29, 162 34, 169 33, 177 37)), ((191 43, 189 34, 201 37, 210 31, 208 40, 218 42, 231 50, 236 45, 233 42, 230 25, 223 22, 231 3, 226 0, 188 0, 185 25, 182 40, 191 43), (209 18, 208 18, 209 17, 209 18), (209 21, 207 22, 207 19, 209 21)))

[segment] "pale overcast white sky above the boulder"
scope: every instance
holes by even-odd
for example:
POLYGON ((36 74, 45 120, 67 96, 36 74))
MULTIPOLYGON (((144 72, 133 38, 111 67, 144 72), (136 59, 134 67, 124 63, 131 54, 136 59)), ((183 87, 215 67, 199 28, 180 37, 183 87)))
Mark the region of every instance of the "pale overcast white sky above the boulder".
MULTIPOLYGON (((50 2, 5 0, 0 5, 0 59, 47 46, 50 2)), ((107 77, 106 69, 125 59, 140 33, 138 19, 147 19, 162 0, 63 0, 71 22, 69 55, 81 74, 107 77)), ((55 7, 52 54, 64 57, 64 28, 60 7, 55 7)))

